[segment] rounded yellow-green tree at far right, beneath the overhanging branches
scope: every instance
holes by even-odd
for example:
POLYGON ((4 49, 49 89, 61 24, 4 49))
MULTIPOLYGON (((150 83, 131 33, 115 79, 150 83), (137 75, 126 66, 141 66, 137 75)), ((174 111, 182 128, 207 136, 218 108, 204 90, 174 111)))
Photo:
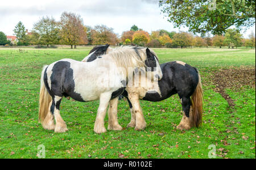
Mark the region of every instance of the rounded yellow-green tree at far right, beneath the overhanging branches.
POLYGON ((225 44, 230 47, 234 48, 234 46, 239 47, 242 45, 242 35, 238 30, 228 29, 225 33, 225 44))

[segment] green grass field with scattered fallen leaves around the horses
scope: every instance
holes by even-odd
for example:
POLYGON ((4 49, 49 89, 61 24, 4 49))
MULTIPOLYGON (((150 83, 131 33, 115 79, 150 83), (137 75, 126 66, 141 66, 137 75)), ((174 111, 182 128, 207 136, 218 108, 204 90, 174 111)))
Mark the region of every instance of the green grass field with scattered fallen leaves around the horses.
MULTIPOLYGON (((181 60, 201 73, 203 126, 176 130, 181 121, 177 95, 161 102, 141 101, 147 127, 126 128, 127 101, 119 101, 122 131, 93 131, 98 101, 63 99, 60 113, 69 131, 57 134, 38 122, 40 73, 63 58, 82 60, 91 47, 78 49, 0 48, 0 158, 216 158, 255 159, 255 50, 154 49, 160 63, 181 60), (216 77, 218 75, 218 77, 216 77)), ((108 126, 108 116, 105 118, 108 126)))

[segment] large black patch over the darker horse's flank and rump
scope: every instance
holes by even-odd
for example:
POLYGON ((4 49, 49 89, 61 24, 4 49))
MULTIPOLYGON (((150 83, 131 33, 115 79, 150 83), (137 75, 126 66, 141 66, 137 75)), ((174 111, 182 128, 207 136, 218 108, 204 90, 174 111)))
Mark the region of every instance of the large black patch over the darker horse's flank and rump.
POLYGON ((146 93, 146 101, 162 101, 174 94, 178 94, 182 99, 182 109, 189 117, 191 99, 196 86, 199 83, 199 74, 197 69, 188 64, 181 65, 176 61, 160 64, 163 78, 158 81, 161 96, 158 93, 146 93))

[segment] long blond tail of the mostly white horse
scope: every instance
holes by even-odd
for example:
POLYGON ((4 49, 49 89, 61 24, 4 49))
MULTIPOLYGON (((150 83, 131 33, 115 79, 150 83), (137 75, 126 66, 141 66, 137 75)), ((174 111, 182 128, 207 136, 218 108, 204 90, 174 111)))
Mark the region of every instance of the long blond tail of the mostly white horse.
POLYGON ((44 65, 43 71, 41 74, 41 87, 40 87, 40 94, 39 94, 39 120, 41 123, 44 122, 46 115, 48 114, 49 104, 52 101, 51 96, 47 92, 46 85, 44 84, 44 72, 48 65, 44 65))

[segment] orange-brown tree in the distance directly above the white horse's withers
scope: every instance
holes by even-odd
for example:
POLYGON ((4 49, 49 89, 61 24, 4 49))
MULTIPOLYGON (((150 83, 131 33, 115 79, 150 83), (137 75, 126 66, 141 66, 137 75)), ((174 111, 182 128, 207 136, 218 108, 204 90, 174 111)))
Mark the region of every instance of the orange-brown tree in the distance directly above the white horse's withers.
POLYGON ((95 26, 94 30, 91 31, 92 44, 110 44, 115 45, 118 43, 117 35, 113 32, 113 28, 107 26, 95 26))

